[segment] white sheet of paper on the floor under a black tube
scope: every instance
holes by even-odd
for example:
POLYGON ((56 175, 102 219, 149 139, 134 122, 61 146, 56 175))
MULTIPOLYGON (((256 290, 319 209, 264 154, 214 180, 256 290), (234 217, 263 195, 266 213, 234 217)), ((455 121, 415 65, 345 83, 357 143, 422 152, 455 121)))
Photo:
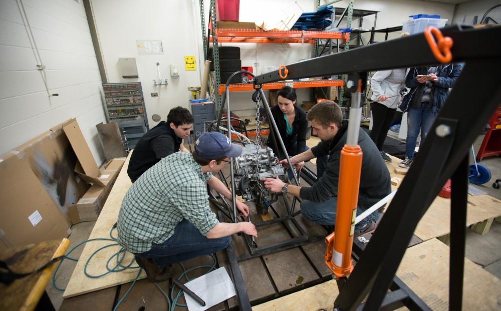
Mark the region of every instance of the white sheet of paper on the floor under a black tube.
POLYGON ((236 294, 235 287, 224 267, 197 277, 184 285, 205 301, 205 306, 202 306, 187 293, 184 293, 189 311, 206 310, 236 294))

